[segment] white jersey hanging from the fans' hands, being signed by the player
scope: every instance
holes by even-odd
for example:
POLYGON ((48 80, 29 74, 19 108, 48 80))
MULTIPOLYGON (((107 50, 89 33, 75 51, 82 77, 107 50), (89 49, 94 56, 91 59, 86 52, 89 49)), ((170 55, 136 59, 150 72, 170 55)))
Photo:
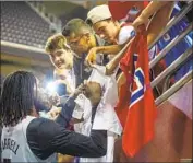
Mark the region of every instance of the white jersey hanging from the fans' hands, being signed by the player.
MULTIPOLYGON (((114 140, 122 133, 122 126, 114 112, 114 104, 118 100, 117 83, 114 75, 105 75, 105 67, 95 66, 88 81, 98 82, 104 91, 104 96, 97 106, 96 114, 92 126, 92 104, 88 98, 80 94, 75 100, 80 106, 80 113, 84 121, 81 133, 89 136, 91 129, 107 130, 107 154, 101 158, 81 158, 80 162, 113 162, 114 140)), ((75 115, 75 114, 74 114, 75 115)))

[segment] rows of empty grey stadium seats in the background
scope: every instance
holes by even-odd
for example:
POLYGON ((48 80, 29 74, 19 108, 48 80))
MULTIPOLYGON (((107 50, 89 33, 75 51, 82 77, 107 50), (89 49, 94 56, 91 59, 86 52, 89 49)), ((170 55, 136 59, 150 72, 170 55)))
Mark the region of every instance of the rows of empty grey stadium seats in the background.
POLYGON ((1 1, 1 40, 44 48, 49 24, 24 1, 1 1))

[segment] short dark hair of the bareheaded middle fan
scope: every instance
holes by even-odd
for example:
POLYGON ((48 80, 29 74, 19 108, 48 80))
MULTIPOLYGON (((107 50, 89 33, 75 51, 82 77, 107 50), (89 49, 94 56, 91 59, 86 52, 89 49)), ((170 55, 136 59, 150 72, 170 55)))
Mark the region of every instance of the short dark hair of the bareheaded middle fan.
POLYGON ((93 34, 92 27, 81 19, 70 20, 62 30, 63 36, 82 36, 86 33, 93 34))

